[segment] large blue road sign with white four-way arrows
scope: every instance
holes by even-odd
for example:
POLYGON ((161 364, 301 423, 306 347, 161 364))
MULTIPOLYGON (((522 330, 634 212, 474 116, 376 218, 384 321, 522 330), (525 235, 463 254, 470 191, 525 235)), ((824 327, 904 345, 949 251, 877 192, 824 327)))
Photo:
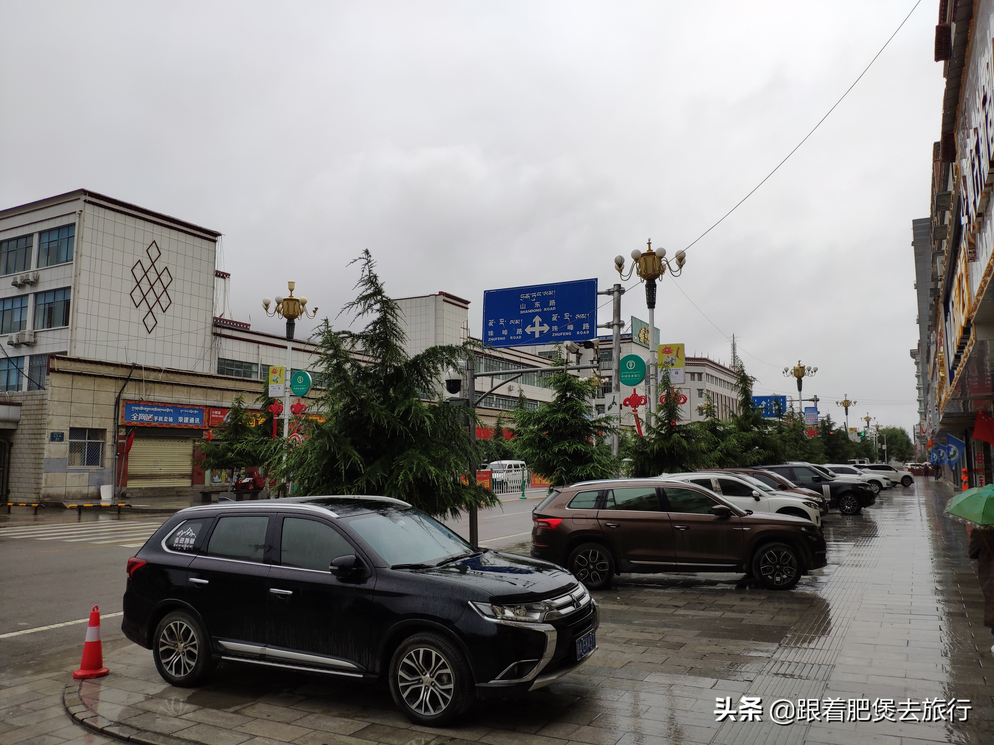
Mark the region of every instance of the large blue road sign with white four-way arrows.
POLYGON ((596 335, 596 279, 483 293, 483 344, 488 347, 585 342, 596 335))

